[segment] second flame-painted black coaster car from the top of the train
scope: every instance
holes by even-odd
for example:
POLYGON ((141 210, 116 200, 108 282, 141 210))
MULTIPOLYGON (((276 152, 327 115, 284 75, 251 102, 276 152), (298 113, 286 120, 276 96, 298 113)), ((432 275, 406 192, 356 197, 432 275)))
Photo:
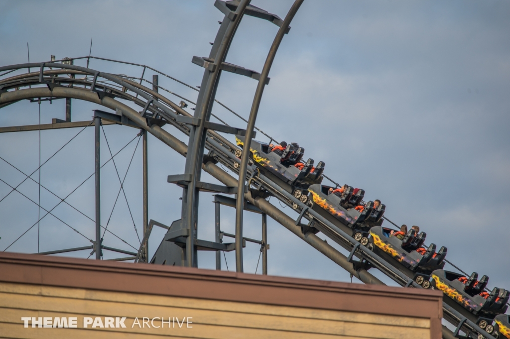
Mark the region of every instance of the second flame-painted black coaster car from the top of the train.
POLYGON ((374 202, 369 201, 365 205, 360 205, 365 191, 353 189, 351 186, 344 185, 342 189, 326 185, 310 185, 308 191, 314 202, 313 209, 324 218, 338 225, 340 221, 344 231, 353 236, 356 241, 362 245, 368 244, 368 231, 370 227, 382 223, 382 214, 385 211, 385 205, 379 204, 374 208, 374 202), (356 206, 361 208, 356 209, 356 206))

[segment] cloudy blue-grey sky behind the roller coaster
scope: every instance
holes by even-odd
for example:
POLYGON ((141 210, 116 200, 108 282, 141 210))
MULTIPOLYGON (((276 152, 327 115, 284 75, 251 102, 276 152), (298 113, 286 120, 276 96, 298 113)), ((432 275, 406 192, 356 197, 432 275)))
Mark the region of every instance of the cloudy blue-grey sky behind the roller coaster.
MULTIPOLYGON (((0 65, 27 62, 27 43, 32 62, 47 61, 50 55, 57 59, 86 56, 93 38, 93 56, 145 64, 196 86, 203 69, 191 59, 209 54, 209 42, 214 41, 223 18, 213 4, 212 0, 3 1, 0 65)), ((252 4, 283 18, 292 1, 253 0, 252 4)), ((324 161, 325 172, 336 181, 365 189, 368 199, 380 199, 387 206, 385 215, 397 224, 419 225, 427 232, 427 243, 448 247, 447 259, 468 273, 486 274, 491 288, 508 289, 508 17, 510 3, 505 1, 307 0, 279 48, 257 125, 277 140, 298 142, 306 149, 305 158, 324 161)), ((268 21, 243 18, 227 61, 260 71, 277 29, 268 21)), ((137 77, 142 71, 97 60, 91 60, 90 68, 137 77)), ((151 74, 147 71, 146 79, 151 74)), ((160 77, 160 84, 196 99, 196 91, 168 79, 160 77)), ((247 77, 223 73, 216 97, 247 117, 256 86, 247 77)), ((90 120, 91 110, 97 108, 75 100, 73 120, 90 120)), ((0 112, 0 125, 36 124, 38 109, 37 103, 28 101, 11 105, 0 112)), ((214 113, 243 127, 218 105, 214 113)), ((63 100, 41 103, 42 123, 63 117, 63 100)), ((42 132, 42 162, 78 132, 42 132)), ((115 153, 137 133, 129 127, 105 126, 102 162, 109 159, 106 140, 115 153)), ((265 140, 260 134, 258 138, 265 140)), ((119 153, 115 166, 122 179, 133 157, 124 185, 141 238, 141 142, 135 151, 137 141, 119 153)), ((149 148, 149 218, 170 225, 180 218, 181 190, 167 184, 166 176, 182 173, 184 158, 155 138, 149 138, 149 148)), ((38 132, 0 135, 0 157, 27 174, 34 172, 39 164, 38 132)), ((65 197, 94 172, 93 157, 93 128, 88 128, 43 166, 42 185, 65 197)), ((0 179, 15 187, 24 178, 0 160, 0 179)), ((32 178, 38 181, 39 172, 32 178)), ((112 162, 103 168, 101 178, 101 223, 105 225, 119 190, 112 162)), ((37 202, 35 181, 26 180, 18 189, 37 202)), ((0 181, 0 199, 10 191, 0 181)), ((47 210, 60 201, 44 189, 40 197, 47 210)), ((211 200, 209 194, 200 196, 201 239, 214 240, 211 200)), ((66 201, 93 219, 93 177, 66 201)), ((277 205, 275 199, 271 202, 277 205)), ((284 209, 295 218, 289 210, 284 209)), ((90 244, 87 238, 94 237, 90 219, 64 203, 52 213, 84 237, 47 216, 39 232, 35 225, 8 251, 37 252, 38 233, 40 251, 90 244)), ((0 250, 4 250, 37 222, 38 208, 13 192, 0 202, 0 216, 0 250)), ((222 208, 224 231, 234 232, 234 216, 232 208, 222 208)), ((137 248, 133 220, 120 193, 108 229, 137 248)), ((260 216, 245 220, 245 235, 260 239, 260 216)), ((162 235, 162 230, 154 231, 151 253, 162 235)), ((269 243, 270 274, 350 280, 342 269, 273 220, 269 221, 269 243)), ((132 249, 109 233, 105 244, 132 249)), ((245 271, 255 272, 259 247, 248 244, 244 253, 245 271)), ((87 257, 89 252, 72 255, 87 257)), ((115 256, 105 251, 105 258, 115 256)), ((234 253, 227 253, 226 260, 232 270, 234 253)), ((198 265, 214 268, 214 254, 200 253, 198 265)), ((226 269, 224 259, 222 268, 226 269)))

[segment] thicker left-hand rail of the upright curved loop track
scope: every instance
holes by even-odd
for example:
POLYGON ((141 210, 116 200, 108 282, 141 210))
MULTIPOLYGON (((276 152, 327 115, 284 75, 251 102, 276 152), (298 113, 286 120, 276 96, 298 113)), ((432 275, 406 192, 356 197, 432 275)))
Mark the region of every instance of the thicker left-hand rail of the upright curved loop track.
POLYGON ((204 126, 206 120, 209 120, 210 118, 210 111, 212 108, 211 99, 214 98, 214 94, 216 93, 219 74, 221 73, 221 63, 225 60, 232 38, 235 35, 239 22, 244 14, 244 10, 249 3, 250 0, 241 0, 235 11, 233 19, 231 19, 228 15, 225 15, 217 33, 217 38, 222 35, 221 41, 219 42, 219 45, 216 45, 217 41, 215 41, 215 44, 213 44, 211 49, 211 57, 214 58, 215 67, 212 71, 208 69, 204 70, 202 85, 200 86, 200 92, 198 94, 197 110, 195 110, 194 116, 199 118, 200 122, 198 126, 192 128, 190 133, 189 146, 191 151, 187 154, 185 166, 185 173, 191 174, 191 181, 189 182, 188 187, 183 189, 182 223, 184 227, 189 230, 190 234, 190 236, 186 238, 186 263, 189 267, 197 266, 194 250, 196 217, 198 210, 196 181, 200 178, 202 170, 201 160, 206 141, 204 136, 204 126), (223 32, 222 28, 224 28, 224 25, 226 25, 226 29, 223 32), (216 51, 215 48, 217 48, 216 51), (206 81, 206 84, 203 84, 204 81, 206 81))

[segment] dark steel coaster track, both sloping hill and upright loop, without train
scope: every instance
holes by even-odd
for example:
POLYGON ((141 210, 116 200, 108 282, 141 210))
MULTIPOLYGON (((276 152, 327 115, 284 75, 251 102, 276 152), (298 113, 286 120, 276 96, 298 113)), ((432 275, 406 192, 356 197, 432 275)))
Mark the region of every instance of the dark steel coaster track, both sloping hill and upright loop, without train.
MULTIPOLYGON (((95 58, 90 56, 61 60, 62 63, 53 61, 0 67, 0 108, 25 99, 71 98, 93 102, 115 111, 122 117, 126 117, 132 123, 152 134, 177 153, 186 157, 185 174, 182 175, 182 177, 185 178, 184 181, 187 182, 187 186, 183 189, 182 222, 185 228, 190 230, 190 236, 186 238, 186 258, 189 258, 186 260, 186 265, 188 266, 197 266, 196 246, 194 246, 193 243, 193 239, 196 239, 195 226, 199 192, 197 185, 200 182, 201 171, 205 170, 226 187, 237 188, 237 192, 245 192, 244 199, 238 199, 238 208, 236 211, 237 221, 242 220, 242 204, 247 201, 257 206, 263 213, 285 226, 297 237, 307 242, 364 283, 384 284, 367 271, 370 267, 384 273, 401 286, 422 288, 422 286, 417 284, 412 278, 407 277, 385 259, 349 236, 349 234, 337 225, 331 223, 312 208, 302 203, 277 182, 260 173, 257 167, 249 162, 249 151, 247 151, 248 149, 246 147, 241 150, 237 145, 220 134, 220 132, 229 134, 246 133, 247 142, 245 142, 245 145, 249 145, 249 140, 252 135, 251 132, 253 132, 253 128, 256 128, 259 132, 268 137, 270 141, 274 140, 255 127, 254 122, 257 116, 258 102, 260 102, 260 97, 262 96, 262 90, 267 84, 267 75, 272 63, 272 58, 274 58, 274 54, 284 34, 289 32, 289 23, 301 3, 302 0, 296 0, 287 17, 282 20, 276 15, 250 6, 249 1, 246 0, 242 0, 239 3, 216 1, 215 6, 225 14, 225 17, 221 22, 210 56, 208 58, 193 58, 194 63, 205 68, 196 104, 179 94, 162 88, 171 95, 175 95, 195 104, 196 109, 194 115, 191 115, 179 104, 159 93, 154 89, 154 86, 153 89, 150 89, 144 86, 142 82, 150 83, 145 80, 143 76, 145 69, 151 69, 184 86, 195 89, 194 87, 145 65, 123 62, 125 64, 143 67, 142 76, 136 78, 123 74, 101 72, 88 67, 73 65, 68 62, 69 60, 87 59, 88 66, 88 61, 95 58), (261 73, 228 64, 224 61, 243 15, 252 15, 266 19, 279 26, 278 33, 261 73), (28 73, 16 75, 11 74, 9 77, 4 77, 13 72, 19 73, 24 69, 36 69, 36 71, 29 71, 28 73), (259 87, 253 100, 250 118, 248 120, 243 119, 248 124, 248 128, 246 128, 245 131, 228 126, 226 123, 217 124, 210 122, 211 110, 214 102, 226 108, 226 106, 215 99, 216 88, 222 70, 248 75, 259 80, 259 87), (122 102, 124 100, 140 107, 142 111, 138 112, 126 105, 122 102), (188 144, 165 131, 165 129, 160 126, 162 123, 170 124, 174 126, 177 131, 188 136, 188 144), (217 166, 218 163, 236 175, 243 177, 243 180, 238 180, 231 174, 228 174, 225 170, 217 166), (248 190, 245 189, 246 180, 248 180, 249 183, 248 190), (268 191, 282 203, 292 206, 293 210, 299 214, 297 220, 292 219, 262 196, 256 194, 257 191, 261 190, 268 191), (239 204, 241 204, 241 208, 239 208, 239 204), (312 225, 313 222, 313 227, 317 228, 329 239, 335 241, 341 247, 349 251, 349 257, 328 245, 317 237, 314 232, 306 231, 307 227, 303 227, 305 224, 301 223, 303 218, 309 221, 309 226, 312 225), (368 263, 369 267, 366 265, 353 265, 354 257, 364 263, 368 263)), ((114 61, 109 59, 102 60, 114 61)), ((232 110, 230 111, 236 114, 232 110)), ((242 272, 241 240, 242 223, 236 222, 236 263, 237 270, 242 272)), ((97 241, 98 239, 96 239, 96 242, 97 241)), ((95 246, 96 245, 97 244, 95 244, 95 246)), ((457 333, 458 329, 462 329, 466 333, 475 335, 474 337, 477 337, 477 334, 480 333, 488 339, 495 339, 473 321, 466 319, 444 302, 443 314, 445 320, 454 326, 458 326, 457 333)), ((443 326, 443 337, 453 338, 454 335, 449 329, 443 326)))

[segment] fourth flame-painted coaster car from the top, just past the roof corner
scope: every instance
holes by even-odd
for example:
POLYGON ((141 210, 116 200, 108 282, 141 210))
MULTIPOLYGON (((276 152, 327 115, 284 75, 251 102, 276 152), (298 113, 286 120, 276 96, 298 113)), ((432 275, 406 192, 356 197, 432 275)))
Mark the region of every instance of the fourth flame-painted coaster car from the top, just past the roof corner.
POLYGON ((480 328, 487 332, 489 330, 492 332, 492 325, 488 325, 492 323, 492 319, 506 312, 510 292, 498 288, 494 288, 490 293, 485 292, 484 289, 489 282, 486 275, 477 280, 476 272, 466 277, 450 271, 436 270, 432 272, 431 277, 432 286, 449 297, 444 298, 447 304, 477 322, 480 328))

